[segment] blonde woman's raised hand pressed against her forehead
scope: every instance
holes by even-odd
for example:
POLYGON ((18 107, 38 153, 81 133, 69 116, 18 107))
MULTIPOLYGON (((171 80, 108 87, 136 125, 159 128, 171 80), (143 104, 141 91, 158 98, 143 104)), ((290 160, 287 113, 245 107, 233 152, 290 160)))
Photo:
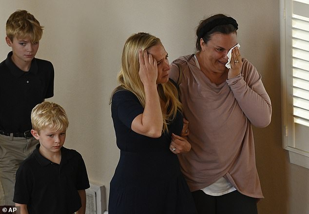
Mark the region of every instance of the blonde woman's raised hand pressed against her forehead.
POLYGON ((139 60, 139 78, 142 83, 156 84, 156 79, 158 75, 158 69, 156 65, 156 60, 151 54, 147 53, 147 50, 138 50, 138 60, 139 60))

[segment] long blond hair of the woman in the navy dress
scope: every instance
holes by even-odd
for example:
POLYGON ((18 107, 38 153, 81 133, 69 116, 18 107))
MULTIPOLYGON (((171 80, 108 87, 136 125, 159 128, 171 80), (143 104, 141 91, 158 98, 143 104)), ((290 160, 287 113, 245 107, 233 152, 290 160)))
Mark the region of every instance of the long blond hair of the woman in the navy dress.
MULTIPOLYGON (((138 74, 138 50, 148 50, 157 44, 162 44, 161 40, 148 33, 133 34, 126 40, 121 56, 121 70, 117 76, 120 85, 113 91, 112 96, 117 91, 125 89, 134 93, 141 105, 145 107, 145 91, 138 74)), ((164 103, 161 104, 161 109, 167 110, 167 114, 163 114, 162 131, 168 131, 167 125, 174 120, 177 110, 182 111, 178 91, 171 81, 158 84, 157 91, 160 100, 164 103)))

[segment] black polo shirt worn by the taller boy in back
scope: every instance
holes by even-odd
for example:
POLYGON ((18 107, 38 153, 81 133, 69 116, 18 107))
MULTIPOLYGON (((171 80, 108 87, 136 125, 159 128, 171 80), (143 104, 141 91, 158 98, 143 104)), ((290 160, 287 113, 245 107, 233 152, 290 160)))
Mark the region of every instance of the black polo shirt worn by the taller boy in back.
POLYGON ((54 67, 34 58, 30 70, 24 72, 12 61, 12 54, 0 63, 0 129, 22 133, 32 128, 33 107, 54 96, 54 67))

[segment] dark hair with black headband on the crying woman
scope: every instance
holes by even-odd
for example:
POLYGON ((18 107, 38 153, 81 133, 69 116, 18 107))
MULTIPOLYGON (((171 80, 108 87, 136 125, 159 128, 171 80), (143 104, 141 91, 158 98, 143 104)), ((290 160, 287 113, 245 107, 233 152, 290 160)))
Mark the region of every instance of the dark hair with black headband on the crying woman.
POLYGON ((207 19, 201 20, 196 29, 196 44, 197 50, 201 50, 201 38, 207 43, 211 36, 215 33, 231 34, 236 33, 238 24, 232 17, 227 17, 223 14, 216 14, 207 19))

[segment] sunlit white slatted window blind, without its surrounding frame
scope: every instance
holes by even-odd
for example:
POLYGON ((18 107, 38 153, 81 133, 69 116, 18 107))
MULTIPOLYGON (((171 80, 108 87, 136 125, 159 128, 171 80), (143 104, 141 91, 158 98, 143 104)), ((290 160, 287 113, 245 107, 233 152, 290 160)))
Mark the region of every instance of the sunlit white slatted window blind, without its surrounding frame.
POLYGON ((309 0, 292 1, 294 122, 309 127, 309 0))

